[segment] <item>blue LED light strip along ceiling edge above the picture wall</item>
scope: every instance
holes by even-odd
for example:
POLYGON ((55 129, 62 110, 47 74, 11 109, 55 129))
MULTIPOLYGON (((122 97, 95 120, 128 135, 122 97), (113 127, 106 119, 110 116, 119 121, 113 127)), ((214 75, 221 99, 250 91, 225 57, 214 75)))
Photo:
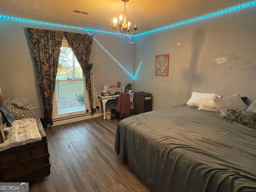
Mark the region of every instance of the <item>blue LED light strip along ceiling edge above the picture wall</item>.
POLYGON ((165 27, 154 29, 154 30, 150 30, 148 32, 133 35, 133 37, 139 37, 139 36, 142 36, 142 35, 158 32, 158 31, 161 31, 161 30, 174 28, 176 26, 184 25, 184 24, 195 22, 195 21, 198 21, 198 20, 207 19, 207 18, 210 18, 210 17, 213 17, 213 16, 225 14, 225 13, 228 13, 228 12, 233 12, 235 10, 240 10, 240 9, 247 8, 247 7, 254 6, 254 5, 256 5, 256 1, 252 1, 252 2, 248 2, 248 3, 245 3, 245 4, 238 5, 238 6, 234 6, 232 8, 228 8, 228 9, 225 9, 225 10, 221 10, 221 11, 218 11, 218 12, 214 12, 214 13, 211 13, 211 14, 200 16, 200 17, 197 17, 197 18, 194 18, 194 19, 185 20, 185 21, 182 21, 182 22, 179 22, 179 23, 176 23, 176 24, 172 24, 172 25, 169 25, 169 26, 165 26, 165 27))

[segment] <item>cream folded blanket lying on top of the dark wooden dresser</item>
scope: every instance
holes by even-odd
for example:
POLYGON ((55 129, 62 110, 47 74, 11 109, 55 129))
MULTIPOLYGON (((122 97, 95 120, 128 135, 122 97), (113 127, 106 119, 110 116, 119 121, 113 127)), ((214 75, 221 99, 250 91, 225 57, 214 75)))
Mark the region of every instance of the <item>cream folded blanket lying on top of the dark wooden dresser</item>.
POLYGON ((34 118, 15 120, 10 132, 11 136, 0 144, 0 151, 42 140, 34 118))

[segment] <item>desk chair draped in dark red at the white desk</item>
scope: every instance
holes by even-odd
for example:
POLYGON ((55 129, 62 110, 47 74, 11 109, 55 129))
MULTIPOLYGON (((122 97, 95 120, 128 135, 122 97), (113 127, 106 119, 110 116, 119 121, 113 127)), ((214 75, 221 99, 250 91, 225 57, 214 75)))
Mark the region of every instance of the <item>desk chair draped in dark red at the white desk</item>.
POLYGON ((110 107, 110 117, 122 120, 130 115, 131 108, 130 94, 123 93, 118 97, 117 104, 110 107))

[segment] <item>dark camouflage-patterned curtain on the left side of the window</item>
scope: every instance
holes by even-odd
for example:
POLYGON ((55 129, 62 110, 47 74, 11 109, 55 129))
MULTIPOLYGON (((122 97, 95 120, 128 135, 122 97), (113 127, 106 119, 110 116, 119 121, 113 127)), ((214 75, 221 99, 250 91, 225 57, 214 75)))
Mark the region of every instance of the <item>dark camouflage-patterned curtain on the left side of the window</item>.
POLYGON ((27 28, 40 87, 44 128, 52 121, 53 94, 63 38, 61 31, 27 28))

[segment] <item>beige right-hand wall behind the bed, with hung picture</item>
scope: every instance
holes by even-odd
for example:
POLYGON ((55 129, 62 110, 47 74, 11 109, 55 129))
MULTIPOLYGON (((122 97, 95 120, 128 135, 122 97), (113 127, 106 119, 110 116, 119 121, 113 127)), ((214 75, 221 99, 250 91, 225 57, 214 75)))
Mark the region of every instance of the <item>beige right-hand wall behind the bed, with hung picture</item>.
POLYGON ((253 7, 138 38, 135 57, 143 64, 136 91, 152 93, 154 110, 186 103, 193 91, 256 99, 255 23, 253 7), (168 77, 154 75, 162 53, 170 54, 168 77))

